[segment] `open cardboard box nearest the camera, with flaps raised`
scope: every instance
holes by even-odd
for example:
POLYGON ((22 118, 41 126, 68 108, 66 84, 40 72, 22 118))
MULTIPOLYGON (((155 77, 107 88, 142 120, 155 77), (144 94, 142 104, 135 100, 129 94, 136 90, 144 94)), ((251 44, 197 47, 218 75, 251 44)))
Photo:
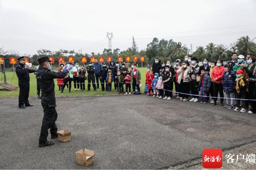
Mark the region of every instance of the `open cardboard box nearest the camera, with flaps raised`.
POLYGON ((94 162, 94 151, 89 149, 81 149, 76 152, 76 163, 82 166, 89 166, 94 162))

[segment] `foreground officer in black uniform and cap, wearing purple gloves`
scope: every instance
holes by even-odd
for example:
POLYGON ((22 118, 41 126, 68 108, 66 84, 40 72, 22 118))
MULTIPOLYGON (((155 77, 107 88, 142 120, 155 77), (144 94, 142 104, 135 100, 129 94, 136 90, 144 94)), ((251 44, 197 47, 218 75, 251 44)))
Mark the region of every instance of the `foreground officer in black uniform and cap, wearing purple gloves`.
POLYGON ((54 72, 50 70, 51 60, 47 56, 43 56, 37 59, 39 63, 38 71, 36 72, 36 80, 42 91, 41 104, 44 109, 44 118, 42 121, 42 127, 39 137, 39 147, 45 147, 54 145, 53 141, 47 141, 48 129, 50 128, 51 139, 58 137, 57 126, 55 121, 57 120, 56 112, 56 99, 54 93, 54 78, 67 78, 68 69, 63 67, 62 72, 54 72))

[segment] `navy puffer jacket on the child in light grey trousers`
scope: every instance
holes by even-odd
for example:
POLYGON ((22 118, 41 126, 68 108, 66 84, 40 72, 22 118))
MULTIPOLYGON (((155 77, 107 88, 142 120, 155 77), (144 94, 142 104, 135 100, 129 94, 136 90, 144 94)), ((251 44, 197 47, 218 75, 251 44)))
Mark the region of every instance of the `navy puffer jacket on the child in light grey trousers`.
POLYGON ((222 86, 224 92, 234 92, 234 83, 236 81, 236 73, 233 70, 230 70, 228 74, 226 72, 223 73, 222 77, 222 86))

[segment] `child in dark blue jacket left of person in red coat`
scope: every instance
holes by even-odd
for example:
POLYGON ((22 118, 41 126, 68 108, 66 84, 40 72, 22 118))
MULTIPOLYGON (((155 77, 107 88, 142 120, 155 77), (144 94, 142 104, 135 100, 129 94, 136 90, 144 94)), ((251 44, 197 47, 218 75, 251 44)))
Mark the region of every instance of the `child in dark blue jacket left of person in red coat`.
POLYGON ((198 91, 200 91, 200 98, 202 100, 200 103, 203 103, 203 104, 207 103, 207 93, 211 88, 211 82, 212 80, 210 76, 206 74, 206 69, 203 68, 201 70, 201 78, 198 86, 198 91))

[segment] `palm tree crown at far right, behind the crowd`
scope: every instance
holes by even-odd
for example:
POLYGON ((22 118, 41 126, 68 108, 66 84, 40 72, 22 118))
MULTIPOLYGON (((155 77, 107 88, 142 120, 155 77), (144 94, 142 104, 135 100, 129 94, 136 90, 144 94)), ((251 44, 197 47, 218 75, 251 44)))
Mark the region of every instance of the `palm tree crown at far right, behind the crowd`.
POLYGON ((255 43, 250 41, 248 35, 246 37, 241 37, 236 42, 236 49, 238 54, 246 56, 248 53, 255 53, 255 43))

